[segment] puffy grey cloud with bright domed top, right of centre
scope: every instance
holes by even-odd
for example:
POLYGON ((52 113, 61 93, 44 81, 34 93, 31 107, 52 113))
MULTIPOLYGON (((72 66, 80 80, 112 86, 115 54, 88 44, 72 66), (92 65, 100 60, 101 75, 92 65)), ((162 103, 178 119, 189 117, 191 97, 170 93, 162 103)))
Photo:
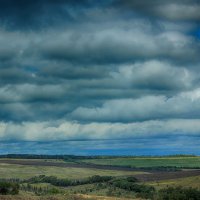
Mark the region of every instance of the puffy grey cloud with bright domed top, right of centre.
POLYGON ((151 60, 133 65, 122 65, 111 72, 116 83, 149 90, 180 90, 193 86, 196 75, 184 67, 151 60))

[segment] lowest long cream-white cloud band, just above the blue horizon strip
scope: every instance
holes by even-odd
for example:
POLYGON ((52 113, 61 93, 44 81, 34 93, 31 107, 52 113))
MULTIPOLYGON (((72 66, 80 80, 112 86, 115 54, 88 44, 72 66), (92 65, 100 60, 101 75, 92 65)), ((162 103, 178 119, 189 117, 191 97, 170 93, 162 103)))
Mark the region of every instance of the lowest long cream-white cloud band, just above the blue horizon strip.
POLYGON ((88 123, 47 121, 0 123, 1 141, 60 141, 83 139, 126 139, 198 135, 199 119, 151 120, 135 123, 88 123))

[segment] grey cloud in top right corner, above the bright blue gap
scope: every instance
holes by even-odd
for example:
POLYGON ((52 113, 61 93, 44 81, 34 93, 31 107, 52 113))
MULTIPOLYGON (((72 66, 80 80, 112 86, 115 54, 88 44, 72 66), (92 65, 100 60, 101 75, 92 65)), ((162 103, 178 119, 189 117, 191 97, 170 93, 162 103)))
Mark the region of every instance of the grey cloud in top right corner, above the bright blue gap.
POLYGON ((200 21, 200 2, 198 0, 118 0, 114 2, 114 5, 157 18, 200 21))

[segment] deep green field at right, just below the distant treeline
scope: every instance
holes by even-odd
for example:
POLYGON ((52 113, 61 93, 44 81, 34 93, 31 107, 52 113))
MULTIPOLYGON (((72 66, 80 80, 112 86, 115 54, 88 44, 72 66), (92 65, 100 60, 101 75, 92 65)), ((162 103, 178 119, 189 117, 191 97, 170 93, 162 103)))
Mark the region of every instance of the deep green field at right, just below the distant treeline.
POLYGON ((128 166, 137 168, 149 167, 180 167, 200 168, 200 157, 133 157, 133 158, 103 158, 82 160, 85 163, 98 165, 128 166))

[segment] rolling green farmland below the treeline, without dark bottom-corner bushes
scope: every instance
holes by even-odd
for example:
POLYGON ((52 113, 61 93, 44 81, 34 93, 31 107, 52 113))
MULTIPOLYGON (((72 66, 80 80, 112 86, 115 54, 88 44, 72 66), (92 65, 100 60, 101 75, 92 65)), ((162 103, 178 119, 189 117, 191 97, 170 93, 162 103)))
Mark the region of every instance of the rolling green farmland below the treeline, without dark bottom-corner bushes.
POLYGON ((18 195, 0 196, 0 199, 154 199, 153 196, 147 198, 146 191, 155 188, 154 193, 157 193, 170 186, 200 190, 199 167, 200 158, 192 156, 69 160, 1 158, 0 179, 16 179, 20 190, 18 195), (132 178, 137 180, 136 183, 132 178))

